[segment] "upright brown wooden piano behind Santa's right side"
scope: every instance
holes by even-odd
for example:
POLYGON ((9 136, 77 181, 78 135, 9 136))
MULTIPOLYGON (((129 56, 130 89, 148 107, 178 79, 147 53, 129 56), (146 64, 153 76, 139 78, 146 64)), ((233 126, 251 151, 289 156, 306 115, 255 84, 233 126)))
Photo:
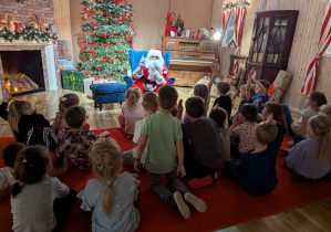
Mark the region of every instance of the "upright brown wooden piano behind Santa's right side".
POLYGON ((169 76, 174 85, 194 86, 204 76, 210 76, 218 42, 210 39, 162 36, 162 50, 172 52, 169 76))

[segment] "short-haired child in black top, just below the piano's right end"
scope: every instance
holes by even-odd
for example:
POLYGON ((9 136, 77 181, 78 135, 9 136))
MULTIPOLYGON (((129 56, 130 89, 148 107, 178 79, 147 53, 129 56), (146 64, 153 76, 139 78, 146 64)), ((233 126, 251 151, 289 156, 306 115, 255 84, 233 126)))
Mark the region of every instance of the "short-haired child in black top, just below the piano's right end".
POLYGON ((227 93, 230 91, 231 86, 228 82, 219 82, 217 84, 217 93, 218 93, 218 98, 215 99, 213 107, 218 104, 219 107, 224 108, 228 113, 228 117, 231 116, 231 110, 232 110, 232 101, 227 93))

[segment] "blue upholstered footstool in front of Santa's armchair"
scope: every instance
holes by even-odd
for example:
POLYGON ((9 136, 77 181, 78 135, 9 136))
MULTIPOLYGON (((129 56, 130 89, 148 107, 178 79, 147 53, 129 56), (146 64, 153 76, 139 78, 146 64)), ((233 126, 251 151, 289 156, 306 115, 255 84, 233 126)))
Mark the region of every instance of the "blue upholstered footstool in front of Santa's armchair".
POLYGON ((133 84, 131 76, 124 76, 126 84, 122 83, 106 83, 106 84, 92 84, 90 88, 93 94, 94 107, 100 106, 102 110, 102 104, 107 103, 121 103, 125 102, 125 92, 133 84))

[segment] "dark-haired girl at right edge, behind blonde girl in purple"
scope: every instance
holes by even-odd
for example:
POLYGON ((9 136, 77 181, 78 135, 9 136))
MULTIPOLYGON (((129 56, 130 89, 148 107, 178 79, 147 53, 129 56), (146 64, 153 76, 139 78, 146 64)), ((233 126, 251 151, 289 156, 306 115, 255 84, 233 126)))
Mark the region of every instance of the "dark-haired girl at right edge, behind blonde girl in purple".
MULTIPOLYGON (((307 122, 314 115, 319 114, 319 108, 327 104, 327 97, 321 92, 312 92, 308 95, 304 106, 307 107, 302 113, 299 120, 293 120, 290 108, 283 104, 282 109, 286 116, 287 125, 289 126, 289 134, 294 136, 296 144, 303 140, 307 135, 307 122)), ((293 141, 289 143, 289 147, 292 147, 293 141)))

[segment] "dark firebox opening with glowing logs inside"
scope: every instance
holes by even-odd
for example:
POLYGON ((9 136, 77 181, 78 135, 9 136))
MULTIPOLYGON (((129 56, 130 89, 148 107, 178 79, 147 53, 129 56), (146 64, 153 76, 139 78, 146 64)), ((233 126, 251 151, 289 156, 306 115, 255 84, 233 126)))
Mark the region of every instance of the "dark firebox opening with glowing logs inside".
POLYGON ((41 51, 0 51, 6 88, 13 96, 43 92, 41 51))

